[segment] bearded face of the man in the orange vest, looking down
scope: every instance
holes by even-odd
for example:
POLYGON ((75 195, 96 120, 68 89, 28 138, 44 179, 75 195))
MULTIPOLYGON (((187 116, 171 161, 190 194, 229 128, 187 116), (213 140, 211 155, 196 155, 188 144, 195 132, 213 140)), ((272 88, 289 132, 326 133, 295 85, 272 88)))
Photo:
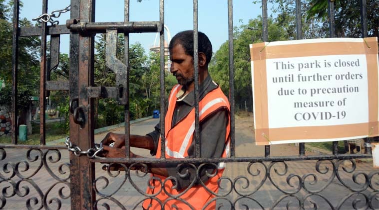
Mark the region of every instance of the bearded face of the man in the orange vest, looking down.
POLYGON ((171 73, 179 85, 189 86, 194 81, 193 58, 187 55, 181 44, 176 44, 170 52, 171 73))

